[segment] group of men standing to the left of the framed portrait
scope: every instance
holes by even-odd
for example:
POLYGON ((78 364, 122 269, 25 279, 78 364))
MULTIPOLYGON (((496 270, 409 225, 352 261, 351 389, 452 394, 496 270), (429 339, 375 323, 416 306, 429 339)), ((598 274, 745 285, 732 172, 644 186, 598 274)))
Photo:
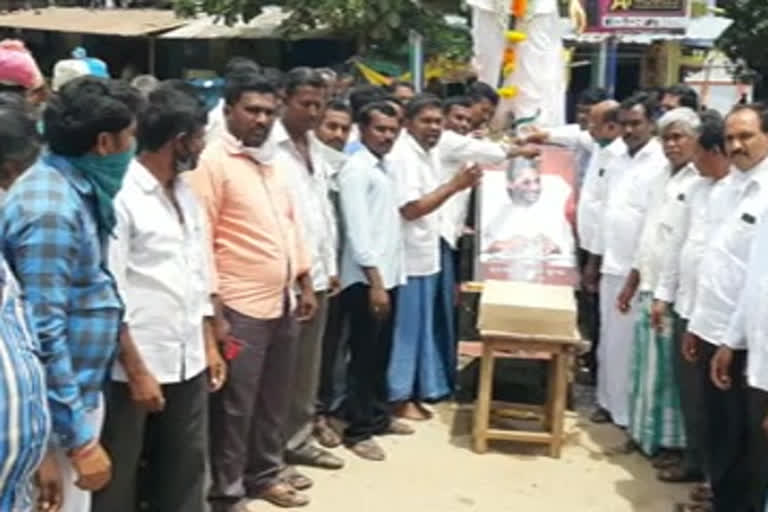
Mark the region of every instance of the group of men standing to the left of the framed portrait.
POLYGON ((468 191, 535 152, 479 137, 493 88, 444 102, 236 58, 207 112, 182 81, 87 69, 47 96, 10 46, 3 510, 303 506, 296 466, 382 461, 378 436, 451 396, 468 191))

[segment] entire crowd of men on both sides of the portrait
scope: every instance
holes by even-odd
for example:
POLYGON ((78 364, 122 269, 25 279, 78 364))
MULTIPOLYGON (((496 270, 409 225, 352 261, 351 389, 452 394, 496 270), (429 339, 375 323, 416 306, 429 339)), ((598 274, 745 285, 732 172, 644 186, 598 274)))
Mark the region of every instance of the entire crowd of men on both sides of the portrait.
POLYGON ((454 390, 480 166, 529 143, 584 171, 592 419, 698 484, 677 510, 763 509, 762 106, 588 91, 578 125, 506 145, 480 82, 441 99, 236 58, 210 112, 182 81, 146 82, 48 96, 23 45, 0 44, 2 510, 299 507, 297 466, 339 470, 341 445, 384 460, 376 438, 454 390))

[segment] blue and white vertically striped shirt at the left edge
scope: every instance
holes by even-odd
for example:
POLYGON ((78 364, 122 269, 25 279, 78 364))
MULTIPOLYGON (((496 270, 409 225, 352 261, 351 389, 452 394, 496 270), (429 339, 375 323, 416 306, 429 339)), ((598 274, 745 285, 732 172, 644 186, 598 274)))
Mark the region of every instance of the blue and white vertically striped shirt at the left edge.
POLYGON ((18 284, 0 258, 0 510, 32 509, 27 491, 50 434, 39 355, 18 284))

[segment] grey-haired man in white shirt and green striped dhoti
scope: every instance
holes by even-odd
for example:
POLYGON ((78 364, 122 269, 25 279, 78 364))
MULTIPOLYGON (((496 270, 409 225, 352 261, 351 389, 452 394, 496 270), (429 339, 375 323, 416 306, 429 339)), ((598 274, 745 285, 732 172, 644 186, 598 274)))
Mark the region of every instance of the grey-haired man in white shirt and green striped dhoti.
POLYGON ((685 447, 680 394, 672 371, 675 319, 671 311, 652 316, 652 306, 673 233, 680 229, 683 201, 699 176, 692 163, 699 124, 699 116, 689 108, 671 110, 659 121, 667 163, 650 184, 640 243, 618 297, 619 310, 635 317, 627 433, 633 446, 649 456, 661 452, 662 457, 672 457, 671 451, 685 447), (637 308, 630 313, 636 294, 637 308))

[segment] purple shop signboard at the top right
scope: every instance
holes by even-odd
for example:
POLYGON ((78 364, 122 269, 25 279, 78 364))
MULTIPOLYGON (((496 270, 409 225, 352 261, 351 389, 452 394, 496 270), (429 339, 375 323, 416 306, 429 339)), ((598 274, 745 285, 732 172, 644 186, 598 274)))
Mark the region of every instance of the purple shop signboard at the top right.
POLYGON ((583 0, 588 32, 684 33, 689 0, 583 0))

